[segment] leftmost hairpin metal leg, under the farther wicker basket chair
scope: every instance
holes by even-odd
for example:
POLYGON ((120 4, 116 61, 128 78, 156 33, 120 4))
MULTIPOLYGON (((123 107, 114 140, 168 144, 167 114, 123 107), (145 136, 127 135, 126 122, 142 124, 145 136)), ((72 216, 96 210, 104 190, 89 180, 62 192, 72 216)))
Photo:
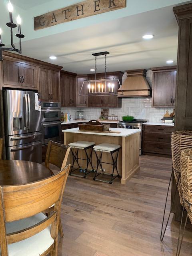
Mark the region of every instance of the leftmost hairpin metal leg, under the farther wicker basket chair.
POLYGON ((176 197, 176 192, 177 192, 177 188, 178 188, 178 183, 179 183, 179 181, 180 181, 180 175, 181 175, 181 174, 179 174, 179 177, 178 177, 178 181, 177 181, 177 184, 176 184, 176 191, 175 191, 175 194, 174 194, 174 198, 173 198, 172 205, 171 205, 171 207, 170 207, 170 212, 169 212, 168 220, 167 220, 167 222, 166 222, 166 226, 165 226, 164 232, 163 232, 163 225, 164 225, 164 218, 165 218, 165 211, 166 211, 167 199, 168 199, 169 188, 170 188, 171 179, 172 179, 173 174, 174 174, 174 171, 173 171, 173 169, 172 169, 171 177, 170 177, 170 181, 169 181, 169 185, 168 185, 168 190, 167 190, 166 201, 165 201, 165 207, 164 207, 164 213, 163 213, 162 226, 161 226, 161 235, 160 235, 160 240, 161 240, 161 241, 163 240, 164 235, 165 235, 165 232, 166 232, 166 228, 167 228, 167 225, 168 225, 168 222, 169 222, 169 219, 170 219, 170 215, 171 215, 171 212, 172 212, 172 209, 173 209, 173 206, 174 206, 174 202, 175 202, 175 197, 176 197))

